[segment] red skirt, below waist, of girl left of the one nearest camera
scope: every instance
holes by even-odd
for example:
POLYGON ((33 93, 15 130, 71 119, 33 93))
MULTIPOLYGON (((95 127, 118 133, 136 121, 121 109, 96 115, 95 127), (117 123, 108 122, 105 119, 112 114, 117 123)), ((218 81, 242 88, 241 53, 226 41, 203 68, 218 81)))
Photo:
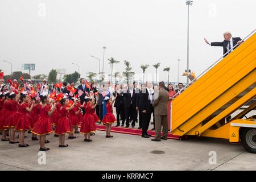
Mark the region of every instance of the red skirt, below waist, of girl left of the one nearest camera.
POLYGON ((18 114, 18 120, 15 124, 16 131, 26 131, 31 129, 31 116, 29 114, 18 114))

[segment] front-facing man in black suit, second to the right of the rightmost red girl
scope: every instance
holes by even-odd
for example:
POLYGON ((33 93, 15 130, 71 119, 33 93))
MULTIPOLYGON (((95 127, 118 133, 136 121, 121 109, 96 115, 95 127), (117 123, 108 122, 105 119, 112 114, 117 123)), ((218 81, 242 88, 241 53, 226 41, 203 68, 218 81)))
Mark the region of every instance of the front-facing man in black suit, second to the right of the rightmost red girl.
POLYGON ((137 94, 135 93, 133 84, 129 84, 128 89, 126 90, 126 93, 123 93, 123 102, 125 105, 125 117, 126 117, 126 127, 130 126, 129 118, 133 119, 133 122, 131 123, 131 127, 135 127, 135 117, 136 117, 136 100, 137 100, 137 94))

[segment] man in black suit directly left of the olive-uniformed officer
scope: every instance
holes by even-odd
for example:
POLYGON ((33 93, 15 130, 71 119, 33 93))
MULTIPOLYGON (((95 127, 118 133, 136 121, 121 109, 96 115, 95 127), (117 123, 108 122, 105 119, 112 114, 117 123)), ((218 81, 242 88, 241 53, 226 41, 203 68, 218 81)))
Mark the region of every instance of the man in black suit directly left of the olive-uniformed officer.
POLYGON ((142 111, 142 137, 149 138, 147 134, 148 126, 153 110, 153 96, 151 93, 151 82, 146 82, 146 87, 142 85, 141 94, 139 95, 139 105, 142 111))

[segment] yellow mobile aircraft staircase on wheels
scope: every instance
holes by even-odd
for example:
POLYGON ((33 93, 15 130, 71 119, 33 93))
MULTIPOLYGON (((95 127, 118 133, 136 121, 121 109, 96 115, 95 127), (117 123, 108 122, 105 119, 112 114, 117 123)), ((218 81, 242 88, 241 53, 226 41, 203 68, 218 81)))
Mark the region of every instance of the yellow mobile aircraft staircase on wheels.
POLYGON ((184 92, 174 96, 172 134, 241 140, 247 151, 256 153, 255 116, 242 119, 255 109, 255 102, 230 117, 256 96, 255 30, 243 41, 185 86, 184 92))

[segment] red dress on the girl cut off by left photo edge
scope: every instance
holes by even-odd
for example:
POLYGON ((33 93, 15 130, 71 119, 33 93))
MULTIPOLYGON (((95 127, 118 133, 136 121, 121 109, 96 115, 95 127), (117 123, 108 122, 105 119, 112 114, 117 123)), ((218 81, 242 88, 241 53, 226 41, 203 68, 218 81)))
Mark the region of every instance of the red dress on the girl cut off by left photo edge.
POLYGON ((7 130, 6 123, 8 122, 8 118, 11 114, 11 100, 5 100, 3 102, 3 106, 0 112, 0 130, 7 130))

